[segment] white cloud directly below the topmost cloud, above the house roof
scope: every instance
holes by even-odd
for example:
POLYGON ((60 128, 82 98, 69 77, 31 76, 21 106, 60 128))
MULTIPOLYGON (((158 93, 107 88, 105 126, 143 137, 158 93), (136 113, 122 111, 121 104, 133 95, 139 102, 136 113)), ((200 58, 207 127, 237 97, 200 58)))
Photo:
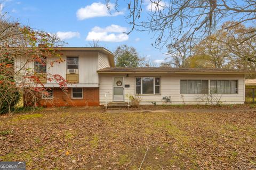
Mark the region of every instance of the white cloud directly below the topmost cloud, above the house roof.
POLYGON ((105 41, 105 42, 122 42, 129 39, 129 36, 126 33, 123 33, 127 30, 125 27, 119 25, 110 25, 106 28, 93 27, 92 30, 88 33, 86 40, 87 41, 105 41), (116 33, 113 33, 116 32, 116 33))

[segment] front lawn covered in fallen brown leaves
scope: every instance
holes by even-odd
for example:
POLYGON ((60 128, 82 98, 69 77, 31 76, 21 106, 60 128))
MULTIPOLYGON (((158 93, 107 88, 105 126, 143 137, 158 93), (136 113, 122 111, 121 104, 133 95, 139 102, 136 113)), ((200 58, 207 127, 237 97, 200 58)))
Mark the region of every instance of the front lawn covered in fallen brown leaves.
POLYGON ((253 169, 256 113, 105 113, 56 108, 0 116, 0 161, 27 169, 253 169))

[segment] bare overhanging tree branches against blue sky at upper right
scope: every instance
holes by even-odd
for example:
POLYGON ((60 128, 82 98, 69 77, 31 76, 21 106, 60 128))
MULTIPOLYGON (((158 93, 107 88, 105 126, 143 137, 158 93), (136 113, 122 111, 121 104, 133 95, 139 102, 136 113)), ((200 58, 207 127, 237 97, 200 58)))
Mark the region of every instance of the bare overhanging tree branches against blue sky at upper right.
MULTIPOLYGON (((115 4, 117 11, 121 6, 118 0, 105 1, 109 9, 112 4, 115 4)), ((124 0, 124 2, 127 3, 128 8, 126 20, 132 25, 127 33, 131 33, 134 29, 151 31, 156 39, 153 45, 158 47, 175 44, 180 39, 192 46, 211 35, 217 25, 227 20, 237 23, 225 29, 240 23, 255 24, 256 21, 255 0, 149 0, 147 2, 150 11, 147 13, 144 11, 143 0, 124 0)), ((256 29, 245 32, 247 33, 250 33, 247 39, 253 38, 256 36, 256 29)))

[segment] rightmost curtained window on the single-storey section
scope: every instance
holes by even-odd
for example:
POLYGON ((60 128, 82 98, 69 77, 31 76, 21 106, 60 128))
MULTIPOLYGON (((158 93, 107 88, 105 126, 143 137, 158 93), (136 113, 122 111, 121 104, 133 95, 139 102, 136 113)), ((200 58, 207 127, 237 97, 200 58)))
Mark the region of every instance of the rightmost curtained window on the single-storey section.
POLYGON ((211 80, 211 94, 237 94, 237 80, 211 80))

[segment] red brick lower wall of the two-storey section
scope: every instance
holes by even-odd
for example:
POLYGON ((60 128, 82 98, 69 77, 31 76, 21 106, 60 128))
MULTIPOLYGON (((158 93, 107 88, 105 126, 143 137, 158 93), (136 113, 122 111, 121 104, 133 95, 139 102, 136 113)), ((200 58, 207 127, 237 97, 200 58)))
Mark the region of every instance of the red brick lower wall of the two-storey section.
POLYGON ((49 99, 42 99, 39 105, 53 106, 99 106, 100 104, 99 88, 83 88, 83 99, 71 99, 71 88, 68 88, 65 94, 60 88, 53 88, 52 102, 49 99))

